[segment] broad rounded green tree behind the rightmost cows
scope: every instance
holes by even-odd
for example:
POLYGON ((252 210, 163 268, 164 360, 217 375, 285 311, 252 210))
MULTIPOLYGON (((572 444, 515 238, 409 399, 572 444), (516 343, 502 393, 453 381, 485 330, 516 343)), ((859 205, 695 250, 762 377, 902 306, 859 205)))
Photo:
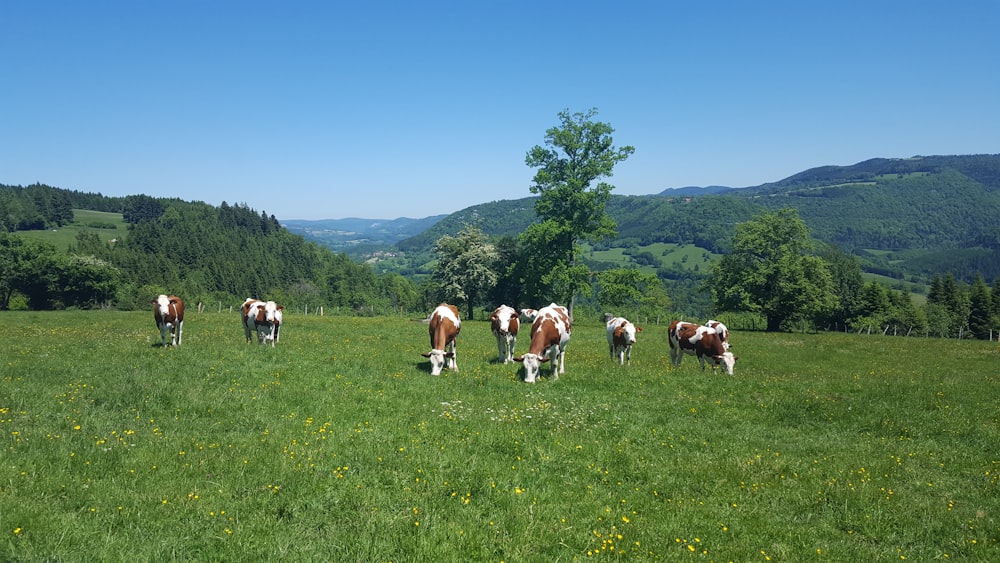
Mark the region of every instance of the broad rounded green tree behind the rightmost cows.
POLYGON ((765 213, 736 226, 733 251, 709 281, 721 311, 764 315, 767 330, 814 320, 836 306, 827 263, 810 254, 809 229, 794 209, 765 213))

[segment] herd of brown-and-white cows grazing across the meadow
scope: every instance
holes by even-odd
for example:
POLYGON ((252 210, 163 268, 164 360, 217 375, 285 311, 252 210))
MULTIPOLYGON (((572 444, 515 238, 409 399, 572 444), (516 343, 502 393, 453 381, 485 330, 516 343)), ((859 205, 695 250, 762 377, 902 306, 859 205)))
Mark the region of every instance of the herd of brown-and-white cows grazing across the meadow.
MULTIPOLYGON (((160 330, 161 345, 166 346, 167 336, 174 346, 179 346, 184 328, 184 302, 176 295, 160 295, 152 301, 153 318, 160 330)), ((247 299, 243 302, 241 319, 247 342, 257 335, 257 342, 274 346, 281 333, 284 308, 274 301, 247 299)), ((606 315, 608 352, 619 365, 632 361, 632 346, 636 334, 642 327, 635 326, 623 317, 606 315)), ((427 320, 430 333, 431 351, 424 353, 431 361, 431 375, 440 375, 447 367, 458 371, 456 340, 462 330, 462 320, 458 308, 442 303, 437 306, 427 320)), ((566 307, 552 303, 541 309, 521 309, 501 305, 490 315, 490 326, 497 340, 497 354, 503 363, 518 362, 524 365, 524 381, 534 383, 542 364, 552 362, 552 379, 566 373, 566 345, 572 332, 572 320, 566 307), (528 351, 514 355, 514 345, 521 318, 531 323, 531 340, 528 351)), ((681 365, 686 354, 696 356, 701 369, 706 362, 713 369, 721 366, 733 375, 737 356, 729 351, 729 330, 718 321, 708 321, 705 325, 685 321, 673 321, 667 329, 670 342, 670 361, 681 365)))

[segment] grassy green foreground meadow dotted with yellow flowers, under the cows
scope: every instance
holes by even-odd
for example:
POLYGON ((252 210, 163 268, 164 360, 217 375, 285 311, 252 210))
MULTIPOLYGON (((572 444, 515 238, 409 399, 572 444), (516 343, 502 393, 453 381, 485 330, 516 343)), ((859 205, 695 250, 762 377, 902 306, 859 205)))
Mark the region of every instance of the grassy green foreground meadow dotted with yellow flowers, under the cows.
POLYGON ((0 560, 1000 560, 996 343, 736 332, 728 377, 593 323, 529 385, 482 321, 440 377, 416 320, 238 325, 0 313, 0 560))

